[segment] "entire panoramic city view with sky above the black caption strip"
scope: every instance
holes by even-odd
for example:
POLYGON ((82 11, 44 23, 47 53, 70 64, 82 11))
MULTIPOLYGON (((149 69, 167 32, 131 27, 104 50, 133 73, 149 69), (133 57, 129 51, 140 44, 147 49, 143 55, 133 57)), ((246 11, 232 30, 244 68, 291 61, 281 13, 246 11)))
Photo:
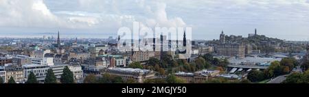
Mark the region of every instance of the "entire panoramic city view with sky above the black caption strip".
POLYGON ((0 83, 309 83, 308 8, 1 0, 0 83))

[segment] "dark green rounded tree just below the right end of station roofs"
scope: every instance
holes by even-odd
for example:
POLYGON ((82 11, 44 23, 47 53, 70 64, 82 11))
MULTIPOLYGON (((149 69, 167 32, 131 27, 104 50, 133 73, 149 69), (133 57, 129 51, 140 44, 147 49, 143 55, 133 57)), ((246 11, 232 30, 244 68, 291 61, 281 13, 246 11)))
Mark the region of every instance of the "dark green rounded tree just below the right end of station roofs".
POLYGON ((252 82, 262 81, 264 79, 264 74, 258 70, 251 70, 248 73, 247 79, 252 82))

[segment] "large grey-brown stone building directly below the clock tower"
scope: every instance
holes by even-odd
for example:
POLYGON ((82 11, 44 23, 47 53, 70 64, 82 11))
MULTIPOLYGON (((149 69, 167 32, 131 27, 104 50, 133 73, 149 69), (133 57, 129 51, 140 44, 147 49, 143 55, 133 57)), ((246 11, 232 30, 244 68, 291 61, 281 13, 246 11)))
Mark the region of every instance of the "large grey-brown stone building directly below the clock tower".
POLYGON ((224 43, 216 46, 218 55, 229 57, 245 57, 245 46, 239 43, 224 43))

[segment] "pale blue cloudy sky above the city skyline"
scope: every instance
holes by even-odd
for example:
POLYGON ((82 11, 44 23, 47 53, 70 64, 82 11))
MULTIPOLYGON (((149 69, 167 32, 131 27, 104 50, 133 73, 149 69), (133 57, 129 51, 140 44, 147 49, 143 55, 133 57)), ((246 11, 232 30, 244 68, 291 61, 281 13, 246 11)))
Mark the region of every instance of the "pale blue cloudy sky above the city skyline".
POLYGON ((192 27, 192 39, 309 40, 309 0, 1 0, 0 37, 107 38, 120 27, 192 27))

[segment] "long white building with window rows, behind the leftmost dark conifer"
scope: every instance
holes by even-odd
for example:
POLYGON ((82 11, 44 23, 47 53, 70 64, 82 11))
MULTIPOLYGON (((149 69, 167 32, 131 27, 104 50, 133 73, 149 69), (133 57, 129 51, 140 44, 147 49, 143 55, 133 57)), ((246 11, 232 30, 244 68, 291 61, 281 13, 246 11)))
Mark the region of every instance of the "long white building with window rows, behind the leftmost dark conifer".
POLYGON ((39 82, 43 82, 45 80, 47 70, 49 69, 49 66, 43 66, 38 64, 25 64, 22 67, 23 76, 25 77, 25 79, 28 78, 30 72, 34 72, 36 80, 39 82))

